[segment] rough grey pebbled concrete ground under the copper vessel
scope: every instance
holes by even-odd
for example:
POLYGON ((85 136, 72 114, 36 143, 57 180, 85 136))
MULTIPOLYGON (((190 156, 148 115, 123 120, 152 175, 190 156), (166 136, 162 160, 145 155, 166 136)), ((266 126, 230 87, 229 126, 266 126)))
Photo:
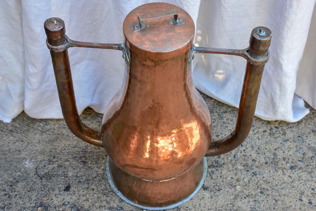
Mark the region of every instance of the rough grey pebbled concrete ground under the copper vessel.
MULTIPOLYGON (((203 95, 214 138, 234 128, 237 109, 203 95)), ((98 129, 101 114, 86 109, 98 129)), ((316 210, 316 111, 297 123, 254 119, 244 144, 209 157, 204 186, 175 210, 316 210)), ((76 138, 62 119, 21 113, 0 122, 0 210, 141 210, 122 201, 106 175, 106 152, 76 138)))

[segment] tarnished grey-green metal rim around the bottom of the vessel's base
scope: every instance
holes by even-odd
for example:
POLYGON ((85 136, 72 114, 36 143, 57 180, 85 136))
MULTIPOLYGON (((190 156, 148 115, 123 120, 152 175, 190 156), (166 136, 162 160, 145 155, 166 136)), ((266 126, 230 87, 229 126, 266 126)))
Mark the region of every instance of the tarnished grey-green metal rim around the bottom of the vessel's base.
POLYGON ((205 179, 205 176, 206 176, 206 172, 207 172, 207 161, 206 161, 206 157, 203 158, 203 167, 204 167, 204 170, 203 170, 203 176, 202 176, 202 179, 200 181, 200 183, 197 185, 197 188, 194 190, 193 193, 191 193, 190 196, 188 196, 187 198, 177 202, 177 203, 174 203, 174 204, 171 204, 169 206, 165 206, 165 207, 146 207, 146 206, 142 206, 142 205, 139 205, 135 202, 132 202, 131 200, 129 200, 127 197, 124 196, 124 194, 116 187, 116 185, 114 184, 114 180, 112 178, 112 174, 110 172, 110 167, 109 167, 109 162, 110 162, 110 158, 109 156, 107 157, 106 159, 106 176, 107 176, 107 179, 109 181, 109 184, 110 186, 112 187, 112 189, 114 190, 114 192, 121 198, 123 199, 125 202, 135 206, 135 207, 138 207, 138 208, 142 208, 142 209, 146 209, 146 210, 165 210, 165 209, 171 209, 171 208, 175 208, 175 207, 178 207, 182 204, 184 204, 185 202, 189 201, 195 194, 197 194, 197 192, 201 189, 203 183, 204 183, 204 179, 205 179))

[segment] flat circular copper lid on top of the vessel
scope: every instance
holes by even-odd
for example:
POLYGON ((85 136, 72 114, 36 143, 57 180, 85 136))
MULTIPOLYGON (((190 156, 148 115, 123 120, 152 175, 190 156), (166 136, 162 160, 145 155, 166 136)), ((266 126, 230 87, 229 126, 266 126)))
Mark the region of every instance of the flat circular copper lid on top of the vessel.
POLYGON ((185 10, 168 3, 147 3, 133 9, 123 22, 123 33, 131 51, 164 59, 191 48, 194 22, 185 10))

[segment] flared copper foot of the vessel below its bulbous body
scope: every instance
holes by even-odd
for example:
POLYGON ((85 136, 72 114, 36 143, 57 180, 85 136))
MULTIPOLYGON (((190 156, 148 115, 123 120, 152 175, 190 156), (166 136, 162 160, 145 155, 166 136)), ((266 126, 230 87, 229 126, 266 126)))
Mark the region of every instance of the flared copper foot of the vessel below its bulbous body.
POLYGON ((165 181, 149 181, 133 177, 110 160, 110 172, 116 187, 132 202, 147 207, 166 207, 189 197, 202 180, 201 160, 189 172, 165 181), (133 185, 131 185, 133 184, 133 185))

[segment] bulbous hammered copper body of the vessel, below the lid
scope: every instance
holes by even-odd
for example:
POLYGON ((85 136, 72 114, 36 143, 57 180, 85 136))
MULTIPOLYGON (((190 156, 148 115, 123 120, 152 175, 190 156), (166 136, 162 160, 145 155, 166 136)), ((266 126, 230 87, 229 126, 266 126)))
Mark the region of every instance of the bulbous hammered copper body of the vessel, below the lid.
POLYGON ((192 81, 191 50, 170 59, 131 51, 121 90, 103 118, 103 145, 123 171, 148 180, 196 166, 211 140, 209 110, 192 81))

